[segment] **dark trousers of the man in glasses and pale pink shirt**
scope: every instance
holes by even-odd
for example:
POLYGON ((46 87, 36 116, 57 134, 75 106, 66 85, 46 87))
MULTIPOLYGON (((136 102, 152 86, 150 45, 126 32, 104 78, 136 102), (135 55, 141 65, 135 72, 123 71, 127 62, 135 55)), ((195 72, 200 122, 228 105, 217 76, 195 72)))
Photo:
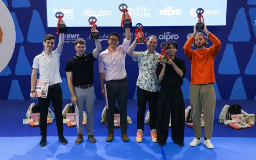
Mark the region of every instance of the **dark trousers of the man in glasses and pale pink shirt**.
POLYGON ((108 133, 114 133, 114 112, 115 103, 120 111, 121 133, 127 133, 127 102, 128 102, 128 82, 125 79, 122 82, 106 81, 108 110, 107 110, 107 127, 108 133))

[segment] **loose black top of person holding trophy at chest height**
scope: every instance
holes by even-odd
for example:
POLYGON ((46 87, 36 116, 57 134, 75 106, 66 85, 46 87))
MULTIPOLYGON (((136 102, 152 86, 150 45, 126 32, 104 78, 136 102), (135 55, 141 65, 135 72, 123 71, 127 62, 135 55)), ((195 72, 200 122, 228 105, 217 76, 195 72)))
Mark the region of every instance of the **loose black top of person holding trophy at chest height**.
MULTIPOLYGON (((173 62, 176 64, 178 68, 180 68, 183 72, 183 76, 181 77, 174 69, 172 65, 166 64, 165 65, 165 71, 162 78, 162 81, 160 82, 161 87, 180 87, 183 84, 183 78, 185 78, 186 74, 186 67, 185 67, 185 61, 182 59, 179 59, 175 56, 175 59, 173 62)), ((156 68, 156 76, 159 77, 159 74, 162 71, 162 65, 158 63, 158 66, 156 68)))

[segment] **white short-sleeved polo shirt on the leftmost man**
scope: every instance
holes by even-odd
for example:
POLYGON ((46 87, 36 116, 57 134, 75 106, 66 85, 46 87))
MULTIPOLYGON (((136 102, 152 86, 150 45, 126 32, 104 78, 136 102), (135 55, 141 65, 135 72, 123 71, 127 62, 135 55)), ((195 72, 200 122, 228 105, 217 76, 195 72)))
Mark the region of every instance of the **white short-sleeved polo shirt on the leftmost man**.
POLYGON ((41 53, 34 58, 33 68, 39 70, 40 80, 49 80, 49 86, 61 83, 60 75, 61 53, 55 49, 50 55, 41 53))

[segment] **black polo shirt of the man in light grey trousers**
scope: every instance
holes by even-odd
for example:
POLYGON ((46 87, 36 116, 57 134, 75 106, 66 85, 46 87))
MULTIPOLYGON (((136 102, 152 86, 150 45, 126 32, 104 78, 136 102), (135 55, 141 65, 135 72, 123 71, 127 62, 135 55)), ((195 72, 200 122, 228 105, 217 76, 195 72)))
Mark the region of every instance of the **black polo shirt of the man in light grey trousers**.
POLYGON ((75 55, 67 61, 66 72, 72 72, 74 86, 86 86, 94 82, 94 58, 93 52, 81 57, 75 55))

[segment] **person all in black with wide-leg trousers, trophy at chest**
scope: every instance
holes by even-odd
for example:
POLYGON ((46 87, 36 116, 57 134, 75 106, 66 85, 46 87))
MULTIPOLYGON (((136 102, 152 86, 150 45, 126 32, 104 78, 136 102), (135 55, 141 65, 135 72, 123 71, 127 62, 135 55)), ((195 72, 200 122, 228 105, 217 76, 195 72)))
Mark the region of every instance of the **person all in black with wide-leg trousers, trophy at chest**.
POLYGON ((171 110, 172 140, 178 146, 184 146, 185 103, 181 86, 185 78, 185 62, 175 56, 178 45, 169 41, 166 52, 169 60, 158 63, 156 75, 160 81, 160 92, 157 110, 157 140, 160 146, 165 145, 168 138, 171 110))

